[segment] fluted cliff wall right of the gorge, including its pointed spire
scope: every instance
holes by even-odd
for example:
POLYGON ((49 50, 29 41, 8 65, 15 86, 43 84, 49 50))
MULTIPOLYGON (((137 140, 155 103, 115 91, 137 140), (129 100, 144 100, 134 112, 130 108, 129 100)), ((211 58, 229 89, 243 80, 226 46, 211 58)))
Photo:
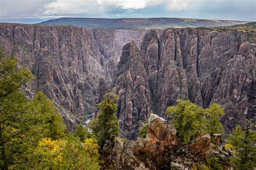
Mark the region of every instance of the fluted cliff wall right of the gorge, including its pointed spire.
POLYGON ((166 29, 160 36, 151 30, 140 51, 134 42, 125 45, 113 88, 123 136, 134 138, 150 111, 165 117, 177 99, 221 104, 227 132, 245 124, 256 112, 255 47, 245 33, 203 29, 166 29))

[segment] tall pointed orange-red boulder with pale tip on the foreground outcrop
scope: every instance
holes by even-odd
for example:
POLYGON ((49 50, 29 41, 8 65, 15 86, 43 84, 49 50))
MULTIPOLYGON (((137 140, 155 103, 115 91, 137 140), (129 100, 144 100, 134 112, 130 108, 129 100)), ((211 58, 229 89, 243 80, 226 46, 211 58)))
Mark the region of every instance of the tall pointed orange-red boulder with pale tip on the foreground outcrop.
POLYGON ((169 162, 173 148, 180 144, 180 138, 176 137, 176 133, 174 126, 168 125, 164 118, 151 114, 147 136, 136 140, 134 153, 146 155, 157 167, 166 167, 162 162, 169 162))

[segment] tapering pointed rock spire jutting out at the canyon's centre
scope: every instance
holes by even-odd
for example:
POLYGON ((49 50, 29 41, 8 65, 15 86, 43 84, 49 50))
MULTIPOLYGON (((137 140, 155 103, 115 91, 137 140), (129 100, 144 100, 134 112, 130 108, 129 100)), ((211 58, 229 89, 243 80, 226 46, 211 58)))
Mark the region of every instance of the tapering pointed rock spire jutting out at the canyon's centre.
POLYGON ((149 77, 144 67, 142 52, 132 41, 123 47, 114 90, 118 94, 118 110, 122 136, 134 139, 139 122, 144 121, 151 110, 149 77))

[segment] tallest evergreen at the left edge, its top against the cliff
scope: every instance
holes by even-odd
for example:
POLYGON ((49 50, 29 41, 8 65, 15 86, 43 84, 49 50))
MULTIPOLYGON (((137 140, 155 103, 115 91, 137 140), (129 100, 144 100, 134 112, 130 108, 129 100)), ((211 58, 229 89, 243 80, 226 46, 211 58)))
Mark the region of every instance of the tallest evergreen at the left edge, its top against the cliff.
POLYGON ((30 71, 18 69, 14 56, 4 55, 0 47, 0 169, 8 169, 23 151, 27 102, 18 90, 32 79, 30 71))

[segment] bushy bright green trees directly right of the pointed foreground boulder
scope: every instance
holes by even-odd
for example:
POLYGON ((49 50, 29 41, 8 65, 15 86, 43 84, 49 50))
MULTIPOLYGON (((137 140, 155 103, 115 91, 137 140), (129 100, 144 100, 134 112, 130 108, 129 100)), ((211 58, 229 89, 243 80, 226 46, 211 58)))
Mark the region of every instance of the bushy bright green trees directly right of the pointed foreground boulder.
POLYGON ((224 109, 219 104, 213 103, 209 108, 203 109, 189 100, 178 100, 178 104, 167 108, 166 112, 185 144, 188 144, 197 132, 207 132, 211 136, 214 133, 224 133, 220 123, 224 109))

